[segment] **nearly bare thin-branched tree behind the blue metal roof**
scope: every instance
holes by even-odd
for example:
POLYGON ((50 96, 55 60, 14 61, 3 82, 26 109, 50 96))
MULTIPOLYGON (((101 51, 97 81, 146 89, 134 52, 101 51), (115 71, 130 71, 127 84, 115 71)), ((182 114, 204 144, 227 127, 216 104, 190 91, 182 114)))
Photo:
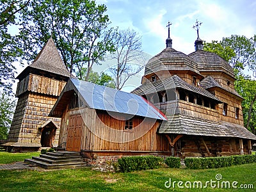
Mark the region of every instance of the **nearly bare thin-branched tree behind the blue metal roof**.
POLYGON ((109 68, 115 79, 116 88, 122 89, 129 77, 138 74, 146 60, 141 50, 141 36, 133 29, 119 30, 115 38, 116 51, 110 59, 116 64, 109 68))

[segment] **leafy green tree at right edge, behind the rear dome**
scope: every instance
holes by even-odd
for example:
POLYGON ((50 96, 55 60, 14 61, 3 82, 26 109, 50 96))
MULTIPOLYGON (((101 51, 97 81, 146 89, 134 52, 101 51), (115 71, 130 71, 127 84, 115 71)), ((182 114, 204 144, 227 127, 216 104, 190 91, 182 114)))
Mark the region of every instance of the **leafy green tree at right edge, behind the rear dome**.
POLYGON ((220 42, 212 41, 204 45, 205 51, 215 52, 228 61, 236 74, 236 91, 244 98, 242 102, 244 126, 255 134, 256 124, 256 81, 244 76, 244 67, 256 75, 256 35, 251 38, 232 35, 220 42))

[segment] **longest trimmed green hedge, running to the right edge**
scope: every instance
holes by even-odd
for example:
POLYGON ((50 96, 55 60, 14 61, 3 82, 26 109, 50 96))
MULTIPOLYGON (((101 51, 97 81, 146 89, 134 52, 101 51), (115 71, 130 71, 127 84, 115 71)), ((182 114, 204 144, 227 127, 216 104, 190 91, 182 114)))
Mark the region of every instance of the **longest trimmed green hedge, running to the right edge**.
POLYGON ((185 164, 190 169, 221 168, 226 166, 256 163, 255 155, 248 156, 228 156, 228 157, 206 157, 206 158, 186 158, 185 164))

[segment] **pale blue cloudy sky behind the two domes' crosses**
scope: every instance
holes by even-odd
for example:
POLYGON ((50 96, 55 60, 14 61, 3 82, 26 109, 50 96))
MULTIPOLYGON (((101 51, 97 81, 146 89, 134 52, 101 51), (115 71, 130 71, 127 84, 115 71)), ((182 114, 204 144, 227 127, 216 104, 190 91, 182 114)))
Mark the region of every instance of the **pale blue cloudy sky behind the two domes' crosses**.
MULTIPOLYGON (((165 48, 168 36, 166 24, 172 22, 170 36, 173 49, 189 54, 195 50, 196 31, 193 25, 202 22, 199 35, 211 42, 231 35, 256 34, 256 1, 242 0, 96 0, 106 4, 111 26, 132 28, 142 36, 143 51, 154 56, 165 48)), ((109 64, 95 66, 94 70, 106 70, 109 64)), ((23 68, 19 68, 18 74, 23 68)), ((143 72, 127 83, 126 91, 140 85, 143 72), (136 82, 136 83, 134 83, 136 82)), ((125 89, 124 89, 125 90, 125 89)))

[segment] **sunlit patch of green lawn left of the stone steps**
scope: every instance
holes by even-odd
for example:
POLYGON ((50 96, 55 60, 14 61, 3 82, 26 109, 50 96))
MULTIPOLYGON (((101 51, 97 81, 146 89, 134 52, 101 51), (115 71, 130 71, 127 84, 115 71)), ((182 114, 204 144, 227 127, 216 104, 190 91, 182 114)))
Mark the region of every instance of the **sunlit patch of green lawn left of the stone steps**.
POLYGON ((39 154, 40 152, 27 152, 27 153, 0 152, 0 164, 24 161, 24 159, 29 159, 32 156, 39 156, 39 154))

